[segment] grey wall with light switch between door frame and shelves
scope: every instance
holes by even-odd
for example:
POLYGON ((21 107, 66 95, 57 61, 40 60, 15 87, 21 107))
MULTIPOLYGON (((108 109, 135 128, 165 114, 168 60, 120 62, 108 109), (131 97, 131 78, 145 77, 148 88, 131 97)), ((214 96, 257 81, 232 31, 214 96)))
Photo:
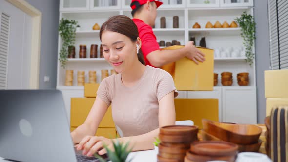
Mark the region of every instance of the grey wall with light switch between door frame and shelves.
POLYGON ((56 89, 59 0, 26 0, 42 12, 39 88, 56 89), (44 76, 50 82, 44 82, 44 76))

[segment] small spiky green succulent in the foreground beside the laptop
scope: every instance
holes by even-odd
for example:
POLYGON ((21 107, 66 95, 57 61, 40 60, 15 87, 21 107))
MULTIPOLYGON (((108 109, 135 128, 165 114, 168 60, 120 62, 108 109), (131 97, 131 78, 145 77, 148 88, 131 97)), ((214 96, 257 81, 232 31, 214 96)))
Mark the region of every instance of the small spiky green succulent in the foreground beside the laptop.
MULTIPOLYGON (((106 145, 104 145, 104 148, 107 150, 107 155, 112 162, 126 162, 126 159, 129 155, 129 153, 132 151, 132 149, 128 149, 129 142, 123 143, 116 140, 113 143, 113 149, 114 151, 107 148, 106 145)), ((102 157, 100 157, 97 153, 94 154, 95 157, 97 157, 101 162, 106 162, 102 157)), ((128 160, 127 162, 131 162, 132 159, 128 160)))

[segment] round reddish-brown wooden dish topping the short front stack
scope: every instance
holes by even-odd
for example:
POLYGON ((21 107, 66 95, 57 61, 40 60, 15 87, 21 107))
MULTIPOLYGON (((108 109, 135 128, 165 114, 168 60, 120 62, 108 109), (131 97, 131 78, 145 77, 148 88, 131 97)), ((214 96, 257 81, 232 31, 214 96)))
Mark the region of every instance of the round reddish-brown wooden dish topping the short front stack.
POLYGON ((205 156, 236 156, 238 145, 225 141, 201 141, 193 142, 190 151, 205 156))

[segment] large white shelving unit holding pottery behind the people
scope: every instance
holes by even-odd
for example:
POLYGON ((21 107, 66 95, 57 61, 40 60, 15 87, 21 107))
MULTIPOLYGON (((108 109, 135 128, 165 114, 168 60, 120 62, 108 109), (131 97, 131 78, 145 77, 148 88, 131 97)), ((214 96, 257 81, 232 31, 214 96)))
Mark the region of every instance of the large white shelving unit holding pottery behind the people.
MULTIPOLYGON (((101 41, 99 30, 92 30, 95 23, 100 26, 109 17, 114 15, 126 15, 130 18, 131 0, 60 0, 60 19, 67 18, 77 20, 81 26, 80 31, 76 32, 75 59, 68 59, 66 68, 61 67, 58 62, 57 89, 62 90, 68 116, 70 116, 71 97, 84 97, 83 86, 77 85, 77 71, 86 71, 86 82, 88 82, 88 71, 97 71, 97 82, 101 79, 101 70, 112 67, 103 58, 89 58, 90 45, 98 44, 98 57, 101 41), (113 4, 113 5, 112 5, 113 4), (108 6, 107 6, 108 5, 108 6), (79 45, 85 44, 87 47, 87 58, 79 58, 79 45), (75 86, 64 86, 65 70, 74 70, 75 86)), ((202 37, 206 39, 208 48, 233 49, 242 46, 240 36, 241 29, 238 28, 205 28, 208 21, 214 24, 219 21, 221 24, 227 21, 230 24, 236 17, 240 17, 244 11, 253 15, 253 0, 160 0, 164 4, 157 9, 158 15, 153 29, 157 41, 177 40, 181 45, 185 45, 191 37, 195 37, 196 46, 202 37), (179 4, 168 4, 179 3, 179 4), (235 2, 235 3, 234 3, 235 2), (179 17, 179 28, 173 28, 173 16, 179 17), (160 18, 166 18, 166 28, 160 28, 160 18), (194 29, 192 26, 199 23, 201 28, 194 29)), ((60 50, 62 40, 59 37, 58 49, 60 50)), ((229 54, 230 55, 230 54, 229 54)), ((226 55, 225 55, 226 56, 226 55)), ((231 55, 232 56, 232 55, 231 55)), ((255 61, 254 61, 255 62, 255 61)), ((255 64, 250 67, 245 62, 245 57, 215 57, 214 72, 218 73, 218 85, 214 91, 181 91, 181 98, 218 98, 219 99, 219 120, 223 122, 256 123, 256 79, 255 64), (233 85, 221 85, 221 73, 229 71, 233 73, 233 85), (237 84, 237 73, 249 72, 250 85, 239 86, 237 84), (237 118, 234 116, 237 115, 237 118), (249 119, 249 120, 247 120, 249 119)))

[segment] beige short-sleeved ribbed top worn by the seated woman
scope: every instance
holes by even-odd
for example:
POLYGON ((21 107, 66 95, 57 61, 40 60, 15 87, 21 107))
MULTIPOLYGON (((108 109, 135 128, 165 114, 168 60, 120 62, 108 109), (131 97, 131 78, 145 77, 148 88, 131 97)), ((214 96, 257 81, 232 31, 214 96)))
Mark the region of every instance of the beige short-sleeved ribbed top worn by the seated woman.
POLYGON ((126 137, 159 128, 158 101, 172 91, 176 97, 178 92, 172 76, 147 65, 140 81, 133 87, 124 86, 119 73, 101 82, 97 96, 108 106, 112 103, 113 121, 126 137))

